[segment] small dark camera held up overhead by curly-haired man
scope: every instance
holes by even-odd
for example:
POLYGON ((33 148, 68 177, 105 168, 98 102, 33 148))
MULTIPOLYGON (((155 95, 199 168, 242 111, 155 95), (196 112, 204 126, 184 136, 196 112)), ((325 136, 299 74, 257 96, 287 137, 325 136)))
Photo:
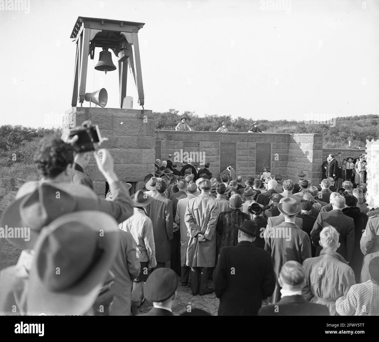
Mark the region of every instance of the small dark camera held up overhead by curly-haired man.
POLYGON ((94 144, 100 144, 102 139, 99 131, 99 126, 92 125, 91 121, 84 121, 81 127, 75 127, 70 130, 69 138, 72 139, 75 135, 78 136, 72 146, 77 153, 95 151, 94 144))

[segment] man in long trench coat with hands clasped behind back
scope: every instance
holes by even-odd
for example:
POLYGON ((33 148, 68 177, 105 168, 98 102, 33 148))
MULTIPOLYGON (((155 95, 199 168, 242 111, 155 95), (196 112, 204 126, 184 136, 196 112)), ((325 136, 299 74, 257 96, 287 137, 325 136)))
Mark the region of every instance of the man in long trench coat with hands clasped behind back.
POLYGON ((198 184, 201 193, 188 201, 185 223, 191 237, 187 249, 187 265, 191 266, 191 290, 194 295, 212 293, 208 288, 209 268, 216 264, 216 223, 218 205, 209 196, 211 182, 204 179, 198 184))

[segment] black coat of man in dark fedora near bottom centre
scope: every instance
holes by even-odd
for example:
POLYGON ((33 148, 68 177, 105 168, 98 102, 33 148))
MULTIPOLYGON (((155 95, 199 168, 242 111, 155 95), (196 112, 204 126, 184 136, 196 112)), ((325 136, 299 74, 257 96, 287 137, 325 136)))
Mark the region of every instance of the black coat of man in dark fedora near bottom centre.
POLYGON ((213 271, 218 315, 257 315, 262 300, 274 292, 271 255, 249 241, 221 248, 213 271))

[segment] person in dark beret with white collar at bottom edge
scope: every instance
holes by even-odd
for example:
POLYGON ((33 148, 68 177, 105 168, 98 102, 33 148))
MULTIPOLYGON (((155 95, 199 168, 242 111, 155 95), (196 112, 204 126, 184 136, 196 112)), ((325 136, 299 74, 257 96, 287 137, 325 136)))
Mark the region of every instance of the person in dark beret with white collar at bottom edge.
POLYGON ((145 316, 173 316, 172 304, 176 297, 178 277, 173 270, 160 268, 146 281, 145 297, 153 302, 153 308, 145 316))

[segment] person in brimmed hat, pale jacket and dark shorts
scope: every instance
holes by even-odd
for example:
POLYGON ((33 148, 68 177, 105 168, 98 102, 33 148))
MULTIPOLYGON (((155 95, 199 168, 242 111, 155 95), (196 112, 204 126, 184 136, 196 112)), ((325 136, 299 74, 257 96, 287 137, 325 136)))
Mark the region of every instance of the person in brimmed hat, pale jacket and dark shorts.
MULTIPOLYGON (((153 233, 153 223, 147 216, 147 206, 153 198, 143 190, 138 190, 132 196, 134 213, 123 223, 119 224, 119 229, 132 234, 138 249, 138 259, 140 271, 133 279, 132 286, 132 315, 138 315, 138 307, 141 305, 141 292, 143 285, 149 275, 147 270, 157 266, 155 259, 155 242, 153 233)), ((130 305, 129 305, 130 309, 130 305)))

